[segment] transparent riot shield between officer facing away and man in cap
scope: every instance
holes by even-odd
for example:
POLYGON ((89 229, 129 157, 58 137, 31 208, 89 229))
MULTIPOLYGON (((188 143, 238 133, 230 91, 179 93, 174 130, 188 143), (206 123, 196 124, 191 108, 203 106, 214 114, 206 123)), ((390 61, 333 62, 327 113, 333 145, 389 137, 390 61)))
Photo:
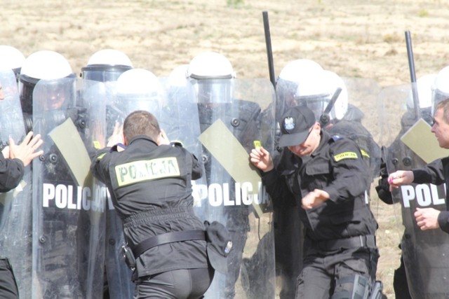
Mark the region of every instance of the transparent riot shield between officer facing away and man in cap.
POLYGON ((208 205, 199 216, 225 224, 233 242, 227 274, 215 272, 205 295, 275 298, 272 204, 249 161, 254 141, 274 149, 274 89, 263 79, 225 81, 196 85, 208 205))

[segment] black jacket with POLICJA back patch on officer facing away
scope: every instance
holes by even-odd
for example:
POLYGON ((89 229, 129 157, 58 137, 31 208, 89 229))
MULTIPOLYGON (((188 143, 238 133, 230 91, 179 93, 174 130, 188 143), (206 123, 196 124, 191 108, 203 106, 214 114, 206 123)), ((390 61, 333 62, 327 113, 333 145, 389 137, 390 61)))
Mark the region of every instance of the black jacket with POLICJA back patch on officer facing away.
MULTIPOLYGON (((125 151, 104 148, 95 153, 91 172, 107 185, 131 249, 156 235, 204 230, 193 211, 191 183, 201 177, 201 167, 185 148, 158 146, 151 138, 138 136, 125 151)), ((170 242, 136 258, 133 281, 138 286, 155 274, 195 268, 209 271, 206 241, 170 242)))

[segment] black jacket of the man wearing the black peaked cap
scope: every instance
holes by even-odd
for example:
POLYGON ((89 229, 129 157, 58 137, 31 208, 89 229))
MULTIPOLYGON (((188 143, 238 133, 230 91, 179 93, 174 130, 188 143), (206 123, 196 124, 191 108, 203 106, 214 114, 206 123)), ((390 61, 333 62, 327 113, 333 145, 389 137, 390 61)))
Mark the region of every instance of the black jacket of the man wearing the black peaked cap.
POLYGON ((284 148, 271 172, 262 174, 275 204, 301 199, 314 189, 325 190, 330 199, 308 211, 300 208, 306 236, 312 241, 375 235, 377 223, 366 204, 369 170, 354 141, 321 132, 319 147, 308 157, 284 148), (277 201, 277 202, 276 202, 277 201))

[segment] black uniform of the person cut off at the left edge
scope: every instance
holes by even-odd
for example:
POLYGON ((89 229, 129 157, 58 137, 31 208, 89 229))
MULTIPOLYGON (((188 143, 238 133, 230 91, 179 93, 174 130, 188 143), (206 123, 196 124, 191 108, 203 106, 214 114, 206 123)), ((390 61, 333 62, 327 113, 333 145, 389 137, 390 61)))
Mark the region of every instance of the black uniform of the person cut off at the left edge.
MULTIPOLYGON (((23 178, 25 167, 19 159, 5 159, 0 152, 0 192, 5 193, 17 187, 23 178)), ((0 204, 0 217, 3 218, 8 211, 4 211, 0 204)), ((0 218, 0 223, 3 219, 0 218)), ((1 255, 1 253, 0 253, 1 255)), ((0 257, 0 298, 19 298, 19 291, 15 282, 13 268, 8 258, 0 257)))

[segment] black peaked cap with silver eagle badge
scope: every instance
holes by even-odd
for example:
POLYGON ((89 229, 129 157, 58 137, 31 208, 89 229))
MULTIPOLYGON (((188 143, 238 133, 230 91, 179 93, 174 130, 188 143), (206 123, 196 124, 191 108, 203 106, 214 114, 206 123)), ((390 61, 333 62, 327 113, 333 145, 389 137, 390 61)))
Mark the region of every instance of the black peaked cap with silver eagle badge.
POLYGON ((283 116, 279 146, 297 146, 309 135, 309 130, 316 123, 314 113, 306 106, 294 106, 283 116))

